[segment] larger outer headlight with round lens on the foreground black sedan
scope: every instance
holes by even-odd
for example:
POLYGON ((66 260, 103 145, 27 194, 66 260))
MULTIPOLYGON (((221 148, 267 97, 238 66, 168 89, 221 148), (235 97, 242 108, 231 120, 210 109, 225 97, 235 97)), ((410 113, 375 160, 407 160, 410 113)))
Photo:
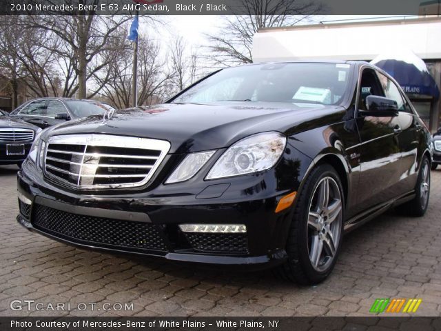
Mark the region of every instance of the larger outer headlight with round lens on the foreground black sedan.
POLYGON ((227 149, 206 179, 252 174, 273 167, 285 150, 286 137, 280 132, 264 132, 242 139, 227 149))

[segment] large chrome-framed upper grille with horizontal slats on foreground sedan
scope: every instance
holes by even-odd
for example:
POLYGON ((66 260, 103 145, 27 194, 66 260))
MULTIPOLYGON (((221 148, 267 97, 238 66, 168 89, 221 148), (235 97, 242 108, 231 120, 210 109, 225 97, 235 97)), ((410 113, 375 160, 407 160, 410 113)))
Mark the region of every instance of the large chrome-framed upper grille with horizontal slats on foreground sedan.
POLYGON ((170 143, 107 134, 54 136, 45 151, 45 175, 79 188, 139 186, 152 178, 170 143))

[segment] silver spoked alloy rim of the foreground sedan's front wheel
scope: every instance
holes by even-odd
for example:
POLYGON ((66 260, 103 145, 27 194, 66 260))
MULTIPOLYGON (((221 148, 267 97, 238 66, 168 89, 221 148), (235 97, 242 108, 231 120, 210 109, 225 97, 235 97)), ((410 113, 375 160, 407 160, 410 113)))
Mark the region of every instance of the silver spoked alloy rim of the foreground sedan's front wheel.
POLYGON ((327 270, 336 257, 342 224, 342 198, 334 178, 322 178, 309 205, 307 240, 312 267, 327 270))

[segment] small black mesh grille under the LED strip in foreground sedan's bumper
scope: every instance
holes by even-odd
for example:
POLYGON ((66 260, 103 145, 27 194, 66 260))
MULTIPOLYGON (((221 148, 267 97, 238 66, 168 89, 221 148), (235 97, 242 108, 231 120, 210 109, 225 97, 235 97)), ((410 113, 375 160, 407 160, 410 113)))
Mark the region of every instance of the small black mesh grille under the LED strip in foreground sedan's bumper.
POLYGON ((202 252, 247 253, 246 233, 198 233, 184 232, 194 250, 202 252))

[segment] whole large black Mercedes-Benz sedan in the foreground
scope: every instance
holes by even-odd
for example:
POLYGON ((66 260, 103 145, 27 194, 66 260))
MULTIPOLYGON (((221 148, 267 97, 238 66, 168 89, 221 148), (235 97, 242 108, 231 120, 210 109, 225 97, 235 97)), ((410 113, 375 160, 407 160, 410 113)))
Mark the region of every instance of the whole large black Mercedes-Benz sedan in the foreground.
POLYGON ((19 172, 17 220, 82 248, 318 283, 345 231, 397 205, 426 212, 429 143, 368 63, 227 68, 161 105, 45 130, 19 172))

